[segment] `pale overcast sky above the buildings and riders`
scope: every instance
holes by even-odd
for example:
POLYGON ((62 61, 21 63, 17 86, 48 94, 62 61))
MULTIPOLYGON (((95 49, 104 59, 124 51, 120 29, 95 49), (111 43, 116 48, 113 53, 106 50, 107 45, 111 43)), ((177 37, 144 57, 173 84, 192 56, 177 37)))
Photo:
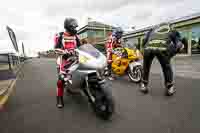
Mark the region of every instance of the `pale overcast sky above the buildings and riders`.
MULTIPOLYGON (((70 16, 136 29, 200 12, 199 0, 6 0, 0 5, 0 49, 11 45, 6 25, 24 42, 27 54, 53 48, 53 35, 70 16)), ((19 44, 20 45, 20 44, 19 44)), ((20 45, 21 47, 21 45, 20 45)))

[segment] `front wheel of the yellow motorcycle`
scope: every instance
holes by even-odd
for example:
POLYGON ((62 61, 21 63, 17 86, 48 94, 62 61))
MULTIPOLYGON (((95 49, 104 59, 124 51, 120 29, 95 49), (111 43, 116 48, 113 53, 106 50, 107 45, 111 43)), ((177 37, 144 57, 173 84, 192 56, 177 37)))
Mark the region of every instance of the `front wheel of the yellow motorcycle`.
POLYGON ((136 66, 132 70, 129 68, 128 77, 132 82, 139 83, 142 80, 142 66, 136 66))

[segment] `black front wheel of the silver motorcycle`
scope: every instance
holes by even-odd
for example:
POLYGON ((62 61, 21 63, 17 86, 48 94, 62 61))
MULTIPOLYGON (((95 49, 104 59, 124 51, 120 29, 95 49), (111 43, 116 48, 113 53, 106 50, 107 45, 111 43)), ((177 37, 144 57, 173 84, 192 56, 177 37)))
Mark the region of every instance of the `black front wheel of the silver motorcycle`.
POLYGON ((105 86, 101 86, 100 88, 93 90, 95 102, 92 103, 92 108, 97 117, 100 117, 103 120, 111 119, 115 110, 114 99, 108 89, 109 88, 105 86))

